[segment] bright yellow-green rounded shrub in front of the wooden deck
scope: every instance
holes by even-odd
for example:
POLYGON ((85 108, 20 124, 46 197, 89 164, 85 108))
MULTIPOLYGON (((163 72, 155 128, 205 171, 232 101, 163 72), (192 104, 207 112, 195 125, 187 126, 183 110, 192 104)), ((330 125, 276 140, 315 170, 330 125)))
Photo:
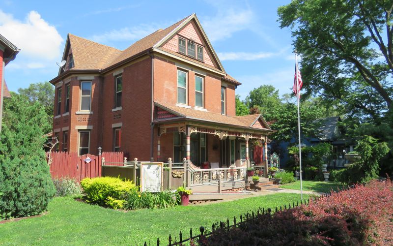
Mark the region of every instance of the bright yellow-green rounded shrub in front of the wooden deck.
POLYGON ((85 178, 81 181, 81 186, 86 193, 86 201, 101 206, 108 205, 106 203, 108 197, 121 200, 126 193, 136 189, 131 181, 122 181, 113 177, 85 178))

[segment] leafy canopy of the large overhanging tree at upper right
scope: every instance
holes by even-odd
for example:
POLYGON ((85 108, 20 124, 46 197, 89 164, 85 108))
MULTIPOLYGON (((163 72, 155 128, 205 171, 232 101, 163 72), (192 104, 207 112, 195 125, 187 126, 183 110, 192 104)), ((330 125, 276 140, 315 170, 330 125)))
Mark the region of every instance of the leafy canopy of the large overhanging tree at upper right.
POLYGON ((293 0, 278 9, 302 57, 306 97, 339 101, 350 116, 379 122, 392 111, 393 2, 293 0))

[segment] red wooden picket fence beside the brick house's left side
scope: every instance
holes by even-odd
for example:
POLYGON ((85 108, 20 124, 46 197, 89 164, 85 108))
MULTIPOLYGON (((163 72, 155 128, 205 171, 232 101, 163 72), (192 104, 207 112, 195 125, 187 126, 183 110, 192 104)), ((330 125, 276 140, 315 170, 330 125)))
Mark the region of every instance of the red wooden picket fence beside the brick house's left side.
POLYGON ((101 156, 91 154, 78 156, 77 153, 52 152, 50 171, 52 178, 68 177, 81 182, 86 177, 101 176, 101 157, 105 157, 105 162, 117 162, 111 165, 122 165, 123 156, 122 152, 104 152, 101 156))

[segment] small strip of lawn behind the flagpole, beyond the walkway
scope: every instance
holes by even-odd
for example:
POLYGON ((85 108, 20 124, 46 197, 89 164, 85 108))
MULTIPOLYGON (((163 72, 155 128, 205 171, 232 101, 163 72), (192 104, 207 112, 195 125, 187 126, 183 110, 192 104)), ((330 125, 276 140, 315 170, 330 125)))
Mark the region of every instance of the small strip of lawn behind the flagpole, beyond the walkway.
MULTIPOLYGON (((345 187, 343 184, 337 182, 324 182, 324 181, 302 181, 303 190, 309 190, 314 192, 325 192, 328 193, 332 189, 337 191, 338 189, 342 189, 345 187)), ((300 190, 300 181, 296 181, 295 183, 283 184, 281 188, 286 189, 297 189, 300 190)))

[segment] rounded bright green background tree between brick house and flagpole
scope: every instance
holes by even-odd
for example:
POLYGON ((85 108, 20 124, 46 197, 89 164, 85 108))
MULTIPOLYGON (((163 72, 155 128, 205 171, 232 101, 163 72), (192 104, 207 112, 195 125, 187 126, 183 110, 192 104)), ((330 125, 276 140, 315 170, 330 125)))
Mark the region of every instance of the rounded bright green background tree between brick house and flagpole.
POLYGON ((281 105, 279 90, 272 85, 261 85, 249 93, 246 105, 249 108, 257 106, 261 114, 265 115, 281 105))

